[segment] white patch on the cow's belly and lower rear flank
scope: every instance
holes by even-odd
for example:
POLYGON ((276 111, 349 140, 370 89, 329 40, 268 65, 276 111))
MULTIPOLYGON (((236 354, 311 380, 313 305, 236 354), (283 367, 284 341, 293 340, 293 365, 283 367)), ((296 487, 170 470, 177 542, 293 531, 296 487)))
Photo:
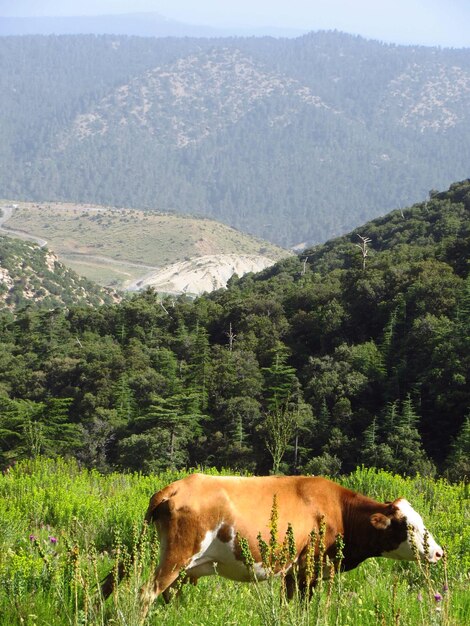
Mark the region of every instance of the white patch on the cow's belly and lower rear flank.
MULTIPOLYGON (((242 561, 235 558, 235 530, 231 528, 230 541, 221 541, 217 537, 222 524, 213 530, 207 531, 201 542, 199 552, 195 554, 186 566, 188 576, 200 578, 219 574, 239 582, 253 580, 253 575, 242 561)), ((266 572, 261 563, 255 563, 254 573, 258 580, 266 578, 266 572)))

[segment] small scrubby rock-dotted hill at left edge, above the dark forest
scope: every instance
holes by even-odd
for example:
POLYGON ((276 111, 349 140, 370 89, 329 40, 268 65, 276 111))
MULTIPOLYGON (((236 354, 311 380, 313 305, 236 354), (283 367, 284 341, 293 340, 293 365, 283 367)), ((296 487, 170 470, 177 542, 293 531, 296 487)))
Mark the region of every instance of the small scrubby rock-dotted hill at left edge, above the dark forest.
POLYGON ((118 300, 114 291, 79 276, 49 250, 0 235, 0 309, 99 306, 118 300))

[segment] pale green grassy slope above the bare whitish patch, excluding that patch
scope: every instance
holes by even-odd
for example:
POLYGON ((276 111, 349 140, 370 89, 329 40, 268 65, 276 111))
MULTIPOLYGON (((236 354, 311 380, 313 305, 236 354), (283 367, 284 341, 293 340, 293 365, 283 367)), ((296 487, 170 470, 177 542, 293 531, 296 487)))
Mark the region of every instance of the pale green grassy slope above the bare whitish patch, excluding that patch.
POLYGON ((161 268, 205 254, 260 254, 274 260, 288 254, 213 220, 135 209, 19 203, 6 226, 45 239, 63 263, 101 285, 120 286, 142 276, 147 266, 161 268))

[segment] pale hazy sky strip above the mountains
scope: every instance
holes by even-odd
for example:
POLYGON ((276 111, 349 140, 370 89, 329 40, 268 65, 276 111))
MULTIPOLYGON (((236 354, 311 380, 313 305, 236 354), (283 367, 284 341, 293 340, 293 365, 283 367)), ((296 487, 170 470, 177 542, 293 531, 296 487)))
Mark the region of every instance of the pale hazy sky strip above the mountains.
POLYGON ((338 29, 395 43, 470 47, 470 0, 0 0, 1 16, 143 11, 208 26, 338 29))

